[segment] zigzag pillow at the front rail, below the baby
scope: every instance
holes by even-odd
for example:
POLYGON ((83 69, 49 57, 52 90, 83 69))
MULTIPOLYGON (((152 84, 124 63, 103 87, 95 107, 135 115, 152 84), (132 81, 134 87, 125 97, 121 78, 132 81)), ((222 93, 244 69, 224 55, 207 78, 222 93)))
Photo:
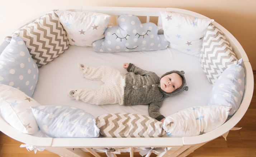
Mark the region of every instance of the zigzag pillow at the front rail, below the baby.
POLYGON ((133 113, 112 113, 97 117, 96 125, 103 137, 162 137, 163 123, 133 113))

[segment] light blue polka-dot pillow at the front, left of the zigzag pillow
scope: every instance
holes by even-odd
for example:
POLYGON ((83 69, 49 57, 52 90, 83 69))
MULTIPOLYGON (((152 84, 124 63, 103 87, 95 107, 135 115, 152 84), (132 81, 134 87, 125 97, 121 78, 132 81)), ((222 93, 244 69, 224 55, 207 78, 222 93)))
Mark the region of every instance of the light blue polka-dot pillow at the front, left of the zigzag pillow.
POLYGON ((71 106, 33 106, 40 130, 49 137, 99 137, 99 128, 90 113, 71 106))

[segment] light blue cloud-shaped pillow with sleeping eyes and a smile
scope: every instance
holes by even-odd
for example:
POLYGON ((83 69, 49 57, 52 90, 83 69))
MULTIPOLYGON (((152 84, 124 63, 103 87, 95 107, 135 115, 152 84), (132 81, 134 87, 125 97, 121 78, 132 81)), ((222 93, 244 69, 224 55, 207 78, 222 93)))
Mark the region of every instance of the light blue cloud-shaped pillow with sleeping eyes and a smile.
POLYGON ((134 15, 120 15, 118 26, 110 26, 105 38, 93 42, 96 52, 148 51, 166 49, 169 41, 157 35, 157 26, 151 22, 141 24, 134 15))

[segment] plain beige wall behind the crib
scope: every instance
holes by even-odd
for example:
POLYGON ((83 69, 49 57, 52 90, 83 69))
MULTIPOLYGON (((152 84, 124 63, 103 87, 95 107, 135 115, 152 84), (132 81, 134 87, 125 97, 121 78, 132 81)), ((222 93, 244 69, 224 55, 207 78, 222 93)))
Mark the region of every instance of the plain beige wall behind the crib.
POLYGON ((214 19, 231 32, 245 49, 253 70, 256 70, 256 0, 7 0, 2 4, 0 41, 24 22, 52 9, 123 6, 176 7, 195 11, 214 19))

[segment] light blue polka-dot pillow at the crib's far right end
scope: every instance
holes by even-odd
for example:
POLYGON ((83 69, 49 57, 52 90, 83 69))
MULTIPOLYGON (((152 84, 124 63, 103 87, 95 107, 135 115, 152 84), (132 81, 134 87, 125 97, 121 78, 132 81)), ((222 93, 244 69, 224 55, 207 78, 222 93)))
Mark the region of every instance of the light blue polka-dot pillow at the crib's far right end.
POLYGON ((231 117, 239 108, 245 89, 245 70, 242 59, 237 64, 229 66, 215 82, 209 105, 232 106, 231 117))

